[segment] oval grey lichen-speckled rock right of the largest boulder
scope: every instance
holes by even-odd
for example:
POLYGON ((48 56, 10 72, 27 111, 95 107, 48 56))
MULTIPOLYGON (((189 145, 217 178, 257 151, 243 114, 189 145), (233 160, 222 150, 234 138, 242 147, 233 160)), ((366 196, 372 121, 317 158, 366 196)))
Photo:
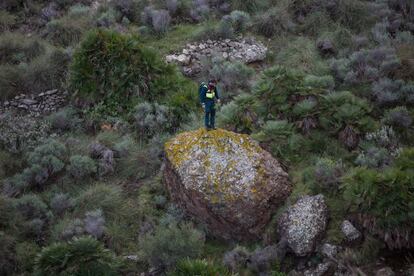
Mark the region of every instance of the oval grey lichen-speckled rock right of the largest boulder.
POLYGON ((323 195, 304 196, 279 218, 278 232, 297 256, 313 252, 325 231, 328 209, 323 195))

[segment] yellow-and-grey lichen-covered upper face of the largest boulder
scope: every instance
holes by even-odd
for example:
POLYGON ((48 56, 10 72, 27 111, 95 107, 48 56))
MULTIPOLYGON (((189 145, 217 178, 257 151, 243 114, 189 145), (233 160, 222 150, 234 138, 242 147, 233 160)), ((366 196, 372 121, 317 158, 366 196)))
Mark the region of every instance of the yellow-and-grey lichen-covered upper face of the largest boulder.
POLYGON ((184 186, 202 192, 212 203, 258 198, 262 151, 248 135, 223 129, 184 132, 165 144, 184 186))

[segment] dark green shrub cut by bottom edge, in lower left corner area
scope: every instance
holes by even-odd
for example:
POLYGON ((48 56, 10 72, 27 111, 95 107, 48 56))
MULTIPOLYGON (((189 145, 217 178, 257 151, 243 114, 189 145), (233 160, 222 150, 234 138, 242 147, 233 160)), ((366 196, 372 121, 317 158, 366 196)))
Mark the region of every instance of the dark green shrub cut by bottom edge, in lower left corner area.
POLYGON ((36 275, 119 275, 120 262, 99 241, 82 237, 44 247, 36 275))

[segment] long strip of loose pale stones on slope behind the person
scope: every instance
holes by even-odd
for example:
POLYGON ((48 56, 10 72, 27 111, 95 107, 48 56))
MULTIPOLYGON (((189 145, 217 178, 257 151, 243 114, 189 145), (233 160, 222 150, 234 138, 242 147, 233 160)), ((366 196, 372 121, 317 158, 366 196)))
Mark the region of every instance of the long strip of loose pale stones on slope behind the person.
POLYGON ((200 43, 187 44, 180 53, 168 55, 166 61, 182 67, 187 76, 201 72, 203 60, 220 57, 244 63, 262 61, 266 58, 267 48, 253 38, 239 40, 207 40, 200 43))

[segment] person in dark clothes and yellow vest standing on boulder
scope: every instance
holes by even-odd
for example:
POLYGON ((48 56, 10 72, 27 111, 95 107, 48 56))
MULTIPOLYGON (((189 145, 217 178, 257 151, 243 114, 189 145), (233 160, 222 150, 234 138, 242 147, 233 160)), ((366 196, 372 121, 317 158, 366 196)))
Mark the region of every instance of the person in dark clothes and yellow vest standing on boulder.
POLYGON ((217 91, 217 81, 210 80, 208 85, 201 83, 200 85, 200 102, 204 109, 204 125, 207 130, 216 129, 216 102, 220 103, 220 97, 217 91))

